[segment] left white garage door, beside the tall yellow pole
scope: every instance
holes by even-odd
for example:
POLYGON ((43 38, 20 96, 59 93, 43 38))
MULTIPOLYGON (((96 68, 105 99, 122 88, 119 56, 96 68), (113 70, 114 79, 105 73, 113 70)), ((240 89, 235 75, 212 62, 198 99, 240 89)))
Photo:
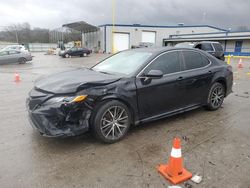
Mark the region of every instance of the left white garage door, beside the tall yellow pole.
POLYGON ((129 49, 129 34, 114 33, 114 51, 119 52, 129 49))

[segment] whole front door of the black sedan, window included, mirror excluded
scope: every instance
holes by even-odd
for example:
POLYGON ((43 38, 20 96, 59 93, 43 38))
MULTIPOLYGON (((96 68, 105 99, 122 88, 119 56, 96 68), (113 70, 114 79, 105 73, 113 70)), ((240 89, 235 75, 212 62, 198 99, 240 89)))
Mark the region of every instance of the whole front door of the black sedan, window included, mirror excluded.
POLYGON ((182 73, 180 55, 177 51, 158 56, 136 78, 139 116, 141 119, 160 115, 183 107, 184 88, 180 85, 182 73), (150 70, 160 70, 161 78, 149 78, 150 70))

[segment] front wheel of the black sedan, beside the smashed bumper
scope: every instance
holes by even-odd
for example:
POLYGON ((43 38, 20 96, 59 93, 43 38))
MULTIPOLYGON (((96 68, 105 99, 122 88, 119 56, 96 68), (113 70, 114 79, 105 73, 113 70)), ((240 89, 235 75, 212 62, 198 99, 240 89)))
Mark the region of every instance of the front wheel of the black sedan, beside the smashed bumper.
POLYGON ((113 100, 100 104, 97 109, 92 120, 92 134, 105 143, 115 143, 124 138, 131 124, 128 107, 113 100))

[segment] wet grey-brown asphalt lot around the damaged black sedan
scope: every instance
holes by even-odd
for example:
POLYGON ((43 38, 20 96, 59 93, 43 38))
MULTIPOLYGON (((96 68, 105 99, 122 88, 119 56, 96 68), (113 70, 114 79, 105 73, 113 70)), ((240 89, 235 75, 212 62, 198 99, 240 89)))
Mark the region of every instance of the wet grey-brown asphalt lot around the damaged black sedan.
POLYGON ((107 145, 90 134, 40 136, 28 122, 25 99, 37 78, 90 67, 108 55, 33 55, 31 63, 0 66, 0 187, 167 187, 156 167, 167 162, 176 136, 185 167, 203 176, 198 185, 188 181, 193 187, 250 187, 250 60, 243 59, 242 69, 236 66, 239 59, 231 60, 234 93, 218 111, 200 108, 143 124, 107 145))

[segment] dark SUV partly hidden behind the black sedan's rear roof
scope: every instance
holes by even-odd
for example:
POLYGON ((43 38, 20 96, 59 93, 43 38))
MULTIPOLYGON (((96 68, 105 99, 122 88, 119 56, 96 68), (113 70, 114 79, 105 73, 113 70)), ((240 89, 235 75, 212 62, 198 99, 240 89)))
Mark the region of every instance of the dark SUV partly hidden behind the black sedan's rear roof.
POLYGON ((204 50, 209 54, 213 55, 214 57, 222 61, 225 61, 224 50, 221 43, 219 42, 209 42, 209 41, 197 42, 193 47, 204 50))

